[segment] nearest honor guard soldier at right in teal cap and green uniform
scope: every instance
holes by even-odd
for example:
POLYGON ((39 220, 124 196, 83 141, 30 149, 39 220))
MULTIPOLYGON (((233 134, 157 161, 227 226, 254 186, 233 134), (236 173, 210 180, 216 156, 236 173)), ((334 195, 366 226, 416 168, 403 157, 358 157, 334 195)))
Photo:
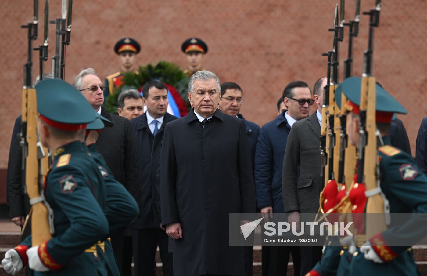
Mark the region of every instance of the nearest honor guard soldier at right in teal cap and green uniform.
MULTIPOLYGON (((389 210, 390 213, 426 213, 427 176, 421 173, 412 156, 390 145, 388 135, 393 114, 406 114, 407 111, 380 85, 377 84, 375 89, 375 120, 380 132, 377 136, 380 189, 374 190, 386 198, 384 210, 389 210)), ((342 92, 348 98, 347 133, 349 141, 355 146, 359 144, 360 139, 360 91, 360 77, 345 79, 335 91, 337 102, 341 101, 342 92)), ((348 209, 343 208, 343 213, 365 213, 369 197, 375 194, 372 190, 367 191, 366 185, 357 183, 356 179, 355 177, 348 194, 348 209)), ((425 223, 410 218, 398 225, 391 221, 386 230, 363 240, 361 247, 355 246, 353 237, 346 237, 347 241, 343 243, 342 240, 341 244, 349 247, 342 250, 337 250, 337 247, 327 248, 330 253, 326 258, 324 256, 309 275, 418 275, 409 245, 413 241, 421 240, 426 232, 425 223), (394 246, 395 241, 401 241, 407 246, 394 246), (331 269, 338 263, 337 258, 339 266, 331 269)), ((357 237, 358 243, 360 238, 363 236, 357 237)))

